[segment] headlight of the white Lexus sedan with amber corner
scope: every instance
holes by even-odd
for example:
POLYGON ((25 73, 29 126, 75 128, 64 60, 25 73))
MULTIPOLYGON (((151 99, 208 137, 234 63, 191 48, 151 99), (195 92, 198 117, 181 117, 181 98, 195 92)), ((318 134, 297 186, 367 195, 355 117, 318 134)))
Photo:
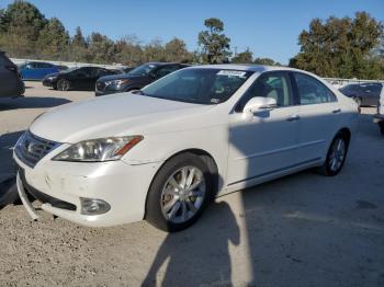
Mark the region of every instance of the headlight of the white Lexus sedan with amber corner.
POLYGON ((88 162, 118 160, 142 140, 143 136, 83 140, 70 146, 53 160, 88 162))

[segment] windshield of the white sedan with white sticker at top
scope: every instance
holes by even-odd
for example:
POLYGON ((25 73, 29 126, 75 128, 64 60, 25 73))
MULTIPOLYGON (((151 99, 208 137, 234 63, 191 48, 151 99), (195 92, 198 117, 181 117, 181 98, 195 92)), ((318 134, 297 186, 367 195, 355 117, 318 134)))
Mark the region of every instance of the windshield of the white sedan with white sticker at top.
POLYGON ((173 72, 144 88, 147 96, 196 104, 227 101, 252 74, 251 71, 192 68, 173 72))

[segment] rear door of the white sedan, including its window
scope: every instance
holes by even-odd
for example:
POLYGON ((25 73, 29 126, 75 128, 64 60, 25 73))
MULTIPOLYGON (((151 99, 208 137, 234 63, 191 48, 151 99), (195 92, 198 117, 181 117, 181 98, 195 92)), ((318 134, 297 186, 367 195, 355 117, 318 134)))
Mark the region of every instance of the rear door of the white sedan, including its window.
POLYGON ((297 162, 318 161, 336 135, 338 116, 342 113, 336 95, 314 77, 292 73, 293 87, 300 103, 297 162))

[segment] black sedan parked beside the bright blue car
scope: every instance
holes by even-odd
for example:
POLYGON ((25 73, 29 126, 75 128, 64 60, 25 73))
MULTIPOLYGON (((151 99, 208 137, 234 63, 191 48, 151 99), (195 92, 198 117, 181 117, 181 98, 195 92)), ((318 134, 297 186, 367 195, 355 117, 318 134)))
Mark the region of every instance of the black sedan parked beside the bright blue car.
POLYGON ((116 70, 109 70, 100 67, 70 68, 46 76, 43 80, 43 84, 60 91, 93 91, 94 84, 100 77, 116 73, 116 70))

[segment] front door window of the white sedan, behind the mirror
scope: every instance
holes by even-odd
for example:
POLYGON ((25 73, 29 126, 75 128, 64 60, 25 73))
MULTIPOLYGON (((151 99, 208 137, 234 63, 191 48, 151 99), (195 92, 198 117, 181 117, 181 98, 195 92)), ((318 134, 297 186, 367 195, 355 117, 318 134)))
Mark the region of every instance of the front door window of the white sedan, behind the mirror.
POLYGON ((242 95, 235 111, 242 112, 247 102, 255 96, 272 97, 276 100, 278 106, 292 105, 290 78, 285 72, 267 72, 259 76, 242 95))

